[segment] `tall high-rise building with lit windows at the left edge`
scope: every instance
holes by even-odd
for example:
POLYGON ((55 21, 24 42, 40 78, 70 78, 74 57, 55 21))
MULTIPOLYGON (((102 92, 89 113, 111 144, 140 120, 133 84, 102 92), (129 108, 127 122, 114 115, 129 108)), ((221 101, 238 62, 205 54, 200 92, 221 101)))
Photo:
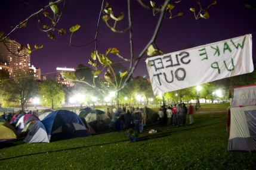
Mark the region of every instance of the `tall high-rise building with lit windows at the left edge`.
POLYGON ((12 68, 11 74, 18 70, 28 71, 30 54, 28 49, 15 40, 6 39, 5 44, 0 42, 0 65, 12 68))

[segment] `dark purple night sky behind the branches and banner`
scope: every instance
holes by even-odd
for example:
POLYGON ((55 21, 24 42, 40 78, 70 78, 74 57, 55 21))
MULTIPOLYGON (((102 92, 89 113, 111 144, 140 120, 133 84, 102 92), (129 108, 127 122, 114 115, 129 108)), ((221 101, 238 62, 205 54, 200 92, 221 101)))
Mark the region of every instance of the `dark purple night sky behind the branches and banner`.
MULTIPOLYGON (((27 2, 39 3, 39 1, 32 0, 27 2)), ((109 2, 109 7, 112 7, 115 15, 119 15, 122 11, 125 12, 125 19, 118 23, 117 29, 127 28, 127 2, 124 0, 109 0, 107 2, 109 2)), ((149 1, 143 2, 149 4, 149 1)), ((203 7, 206 8, 213 0, 203 0, 202 2, 203 7)), ((44 6, 48 4, 48 1, 40 1, 40 3, 36 5, 44 6)), ((164 3, 164 1, 156 1, 156 4, 158 3, 164 3)), ((134 55, 137 56, 151 39, 159 15, 154 17, 151 10, 144 9, 136 1, 132 1, 131 4, 132 22, 134 23, 132 27, 134 33, 134 55)), ((61 5, 58 5, 58 7, 62 8, 61 5)), ((164 20, 156 40, 161 51, 170 53, 252 33, 252 53, 255 58, 254 60, 256 60, 256 46, 254 43, 256 40, 255 1, 219 0, 217 5, 212 6, 208 10, 209 20, 195 20, 193 12, 189 11, 190 7, 197 8, 195 1, 183 0, 180 4, 176 5, 173 12, 174 14, 183 12, 184 15, 172 20, 164 20), (254 8, 246 8, 245 4, 249 4, 254 8)), ((63 17, 61 17, 59 22, 60 26, 58 26, 58 28, 66 29, 67 34, 60 37, 55 32, 56 39, 68 43, 70 36, 69 28, 80 24, 81 28, 72 36, 72 43, 76 46, 83 46, 94 40, 100 8, 100 0, 67 1, 63 17)), ((28 7, 18 0, 1 0, 0 31, 3 31, 5 34, 11 32, 14 26, 38 11, 38 9, 28 7)), ((41 17, 44 18, 43 16, 41 17)), ((95 43, 84 47, 73 47, 55 42, 46 33, 38 30, 37 21, 38 18, 32 18, 26 27, 18 29, 11 34, 10 38, 16 39, 18 43, 24 46, 27 43, 30 46, 35 44, 44 45, 44 48, 32 52, 30 58, 30 63, 35 67, 41 68, 42 74, 50 75, 55 73, 56 67, 76 68, 79 64, 88 65, 90 54, 95 49, 95 43)), ((98 52, 104 53, 109 47, 118 48, 121 55, 129 58, 129 34, 113 33, 101 20, 97 37, 98 52)), ((148 78, 146 58, 147 56, 144 55, 134 75, 146 75, 148 78)), ((120 59, 117 59, 116 56, 111 56, 110 59, 120 62, 120 59)), ((122 62, 122 64, 127 65, 127 62, 122 62)))

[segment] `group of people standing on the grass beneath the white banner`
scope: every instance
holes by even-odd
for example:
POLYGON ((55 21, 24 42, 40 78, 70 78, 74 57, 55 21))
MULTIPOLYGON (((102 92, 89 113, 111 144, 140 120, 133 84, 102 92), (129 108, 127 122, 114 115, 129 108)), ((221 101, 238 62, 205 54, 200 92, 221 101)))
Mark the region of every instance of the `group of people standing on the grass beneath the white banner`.
POLYGON ((186 117, 189 114, 189 124, 193 124, 193 105, 190 103, 188 108, 186 103, 181 103, 174 106, 163 105, 159 109, 159 123, 161 126, 174 125, 181 127, 187 123, 186 117))

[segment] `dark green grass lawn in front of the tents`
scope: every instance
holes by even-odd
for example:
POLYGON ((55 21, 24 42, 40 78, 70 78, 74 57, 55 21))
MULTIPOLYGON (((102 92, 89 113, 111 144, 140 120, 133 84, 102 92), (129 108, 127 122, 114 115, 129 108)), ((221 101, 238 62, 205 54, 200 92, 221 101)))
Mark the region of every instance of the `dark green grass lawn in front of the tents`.
POLYGON ((124 131, 51 143, 5 141, 0 169, 255 169, 255 152, 227 152, 226 112, 194 119, 183 127, 147 125, 134 143, 124 131))

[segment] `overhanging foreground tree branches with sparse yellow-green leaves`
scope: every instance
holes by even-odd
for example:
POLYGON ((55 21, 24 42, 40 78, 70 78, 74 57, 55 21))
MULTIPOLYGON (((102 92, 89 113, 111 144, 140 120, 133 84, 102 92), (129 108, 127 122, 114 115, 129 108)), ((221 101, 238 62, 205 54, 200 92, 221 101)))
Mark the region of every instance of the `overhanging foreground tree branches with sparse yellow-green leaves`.
MULTIPOLYGON (((28 4, 25 1, 22 1, 26 4, 28 4)), ((7 39, 10 34, 16 32, 17 29, 24 28, 29 20, 32 17, 38 17, 38 28, 42 30, 42 32, 45 32, 45 34, 52 40, 57 41, 57 34, 59 36, 62 36, 64 34, 67 34, 66 29, 60 28, 58 26, 58 21, 63 15, 64 12, 64 7, 65 7, 65 2, 64 0, 57 0, 54 2, 50 2, 50 4, 45 5, 44 7, 41 8, 41 10, 38 10, 34 14, 30 15, 28 18, 25 20, 21 21, 20 24, 18 24, 14 29, 6 34, 5 36, 4 33, 0 33, 0 37, 2 37, 2 40, 4 41, 7 39), (63 4, 61 4, 63 3, 63 4), (59 6, 63 5, 63 7, 59 8, 59 6)), ((100 9, 100 14, 98 15, 98 22, 97 22, 97 29, 95 32, 95 39, 92 40, 91 42, 88 42, 86 45, 89 45, 91 43, 95 43, 94 46, 94 51, 91 52, 91 59, 89 59, 89 64, 92 67, 92 74, 93 75, 100 75, 101 72, 104 73, 104 78, 106 81, 108 81, 114 89, 116 89, 116 94, 117 94, 117 99, 119 96, 119 92, 124 89, 125 86, 127 86, 128 81, 131 79, 132 74, 134 73, 135 68, 137 68, 138 62, 140 62, 141 58, 143 55, 146 53, 148 56, 155 56, 155 55, 160 55, 163 54, 163 52, 158 48, 158 45, 156 44, 156 39, 158 37, 159 30, 162 26, 162 22, 164 18, 168 20, 172 20, 173 18, 180 17, 183 15, 183 12, 178 12, 176 13, 173 11, 174 8, 177 8, 179 3, 181 1, 175 1, 175 5, 170 4, 170 0, 165 0, 164 4, 158 4, 156 2, 150 1, 150 4, 144 4, 141 0, 137 0, 138 4, 141 5, 141 7, 147 9, 147 10, 152 10, 153 15, 159 16, 158 23, 155 26, 155 31, 152 34, 151 39, 149 42, 144 46, 143 49, 140 49, 140 52, 138 53, 137 56, 135 56, 134 52, 134 33, 133 33, 133 22, 132 22, 132 10, 131 10, 131 5, 133 2, 130 0, 127 1, 127 20, 124 20, 125 14, 124 12, 121 12, 118 16, 114 15, 114 11, 118 11, 118 9, 114 9, 110 7, 112 4, 109 4, 106 2, 104 4, 104 0, 102 1, 101 4, 101 9, 100 9), (119 30, 120 27, 118 27, 118 24, 120 24, 122 21, 127 21, 127 27, 124 29, 119 30), (118 48, 116 47, 110 47, 107 48, 105 52, 101 53, 98 51, 98 42, 97 42, 97 37, 98 37, 98 32, 100 29, 100 22, 103 22, 106 24, 105 28, 110 29, 113 33, 128 33, 128 43, 129 43, 129 56, 122 56, 122 52, 119 51, 118 48), (119 74, 117 78, 115 73, 115 70, 113 70, 113 61, 110 59, 110 56, 115 56, 121 59, 122 61, 129 62, 129 68, 127 71, 124 71, 119 74), (123 80, 124 78, 124 80, 123 80)), ((209 18, 209 12, 208 9, 212 5, 216 4, 216 1, 214 1, 212 4, 209 4, 206 8, 203 8, 201 2, 199 0, 195 1, 196 4, 198 5, 198 9, 196 8, 190 8, 188 10, 193 12, 193 15, 195 16, 196 20, 199 18, 204 18, 208 19, 209 18)), ((30 6, 35 6, 33 4, 28 4, 30 6)), ((116 13, 115 13, 116 14, 116 13)), ((134 15, 134 17, 136 17, 134 15)), ((69 32, 70 32, 70 39, 69 42, 66 43, 67 45, 70 46, 77 46, 72 43, 72 36, 75 34, 80 29, 80 25, 76 24, 72 27, 70 27, 69 32)), ((85 45, 81 45, 85 46, 85 45)), ((80 46, 80 47, 81 47, 80 46)), ((35 46, 35 49, 39 49, 42 46, 35 46)), ((31 53, 33 50, 30 49, 28 46, 29 52, 31 53)), ((76 77, 69 76, 69 78, 73 78, 75 80, 76 77)), ((94 81, 92 81, 94 82, 94 81)), ((90 83, 87 83, 88 85, 90 83)), ((91 87, 97 88, 98 90, 101 90, 100 88, 95 86, 96 84, 90 84, 91 87)))

